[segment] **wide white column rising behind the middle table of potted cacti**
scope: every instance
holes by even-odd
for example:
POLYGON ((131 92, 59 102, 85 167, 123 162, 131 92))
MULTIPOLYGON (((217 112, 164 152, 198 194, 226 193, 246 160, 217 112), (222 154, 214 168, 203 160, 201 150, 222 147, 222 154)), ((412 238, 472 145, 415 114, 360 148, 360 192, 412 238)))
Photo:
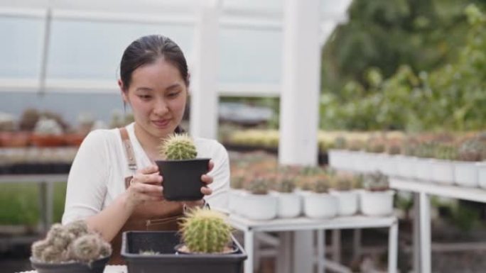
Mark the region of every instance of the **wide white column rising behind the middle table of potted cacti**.
POLYGON ((286 0, 279 162, 316 165, 320 89, 319 0, 286 0))

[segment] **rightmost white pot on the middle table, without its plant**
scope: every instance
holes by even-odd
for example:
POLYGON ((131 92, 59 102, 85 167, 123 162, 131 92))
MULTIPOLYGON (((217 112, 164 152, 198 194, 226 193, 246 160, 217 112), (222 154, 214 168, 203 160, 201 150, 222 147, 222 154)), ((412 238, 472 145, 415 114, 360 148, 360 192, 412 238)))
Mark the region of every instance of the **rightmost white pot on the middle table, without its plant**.
POLYGON ((393 213, 394 191, 360 191, 360 208, 366 216, 388 216, 393 213))

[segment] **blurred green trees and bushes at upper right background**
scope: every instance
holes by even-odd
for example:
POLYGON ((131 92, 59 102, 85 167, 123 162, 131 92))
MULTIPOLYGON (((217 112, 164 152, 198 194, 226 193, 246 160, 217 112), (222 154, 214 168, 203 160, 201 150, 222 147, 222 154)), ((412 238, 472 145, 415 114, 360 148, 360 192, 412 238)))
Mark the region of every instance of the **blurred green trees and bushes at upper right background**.
POLYGON ((469 3, 355 0, 323 49, 320 127, 485 128, 485 4, 469 3))

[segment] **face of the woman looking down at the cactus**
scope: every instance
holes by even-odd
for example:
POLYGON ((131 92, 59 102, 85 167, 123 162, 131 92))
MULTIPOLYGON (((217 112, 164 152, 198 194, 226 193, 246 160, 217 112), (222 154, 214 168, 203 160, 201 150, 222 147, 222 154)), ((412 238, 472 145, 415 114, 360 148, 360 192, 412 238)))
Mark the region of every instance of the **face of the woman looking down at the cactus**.
POLYGON ((128 90, 119 84, 136 125, 152 137, 166 137, 182 121, 188 89, 178 69, 163 58, 135 69, 128 90))

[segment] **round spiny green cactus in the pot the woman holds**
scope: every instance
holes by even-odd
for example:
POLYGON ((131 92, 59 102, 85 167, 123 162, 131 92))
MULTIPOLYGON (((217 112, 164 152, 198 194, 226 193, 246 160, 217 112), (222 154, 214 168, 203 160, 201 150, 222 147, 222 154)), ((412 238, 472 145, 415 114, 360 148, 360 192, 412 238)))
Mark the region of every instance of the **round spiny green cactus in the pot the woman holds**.
POLYGON ((193 160, 198 156, 194 141, 187 134, 173 134, 163 139, 158 152, 166 160, 193 160))

